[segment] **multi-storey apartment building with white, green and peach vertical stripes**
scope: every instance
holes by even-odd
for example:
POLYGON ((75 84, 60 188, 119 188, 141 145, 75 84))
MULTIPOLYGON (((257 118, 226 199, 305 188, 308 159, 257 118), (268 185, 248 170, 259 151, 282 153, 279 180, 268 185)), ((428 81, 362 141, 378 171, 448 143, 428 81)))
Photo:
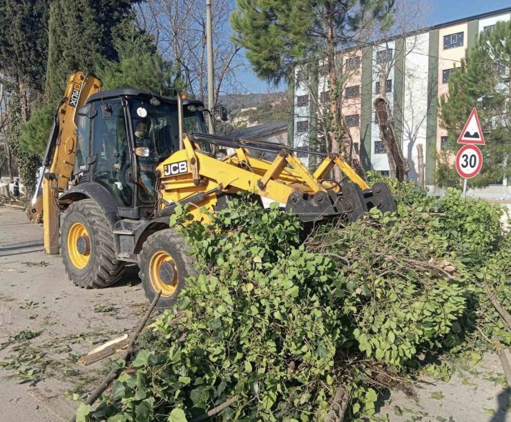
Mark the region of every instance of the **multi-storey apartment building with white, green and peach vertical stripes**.
MULTIPOLYGON (((505 8, 338 53, 336 67, 347 78, 341 107, 365 169, 383 174, 389 171, 372 105, 385 90, 403 154, 411 166, 409 178, 418 178, 417 146, 421 144, 425 184, 434 191, 436 154, 447 144, 447 133, 438 118, 438 98, 448 93, 450 75, 461 65, 467 49, 474 46, 479 32, 492 30, 497 21, 510 20, 511 8, 505 8)), ((328 106, 328 77, 322 72, 322 63, 313 67, 316 71, 307 75, 297 69, 291 88, 295 117, 290 140, 298 148, 319 144, 316 140, 324 131, 321 120, 322 108, 328 106)), ((302 160, 311 164, 306 157, 302 160)), ((511 180, 495 181, 480 193, 510 197, 511 180)))

